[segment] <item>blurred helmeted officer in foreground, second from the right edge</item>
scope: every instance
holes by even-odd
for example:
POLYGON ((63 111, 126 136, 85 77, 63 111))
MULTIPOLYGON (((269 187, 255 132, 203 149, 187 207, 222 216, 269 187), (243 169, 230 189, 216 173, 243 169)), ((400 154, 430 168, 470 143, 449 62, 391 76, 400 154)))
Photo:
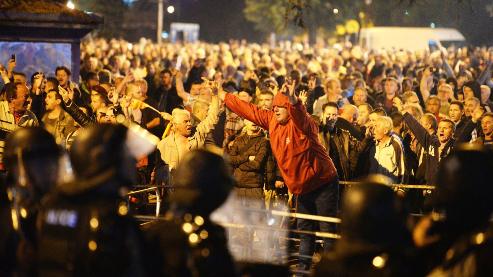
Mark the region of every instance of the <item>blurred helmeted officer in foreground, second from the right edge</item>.
POLYGON ((381 178, 374 175, 343 196, 341 239, 315 268, 316 277, 406 275, 412 249, 407 212, 381 178))

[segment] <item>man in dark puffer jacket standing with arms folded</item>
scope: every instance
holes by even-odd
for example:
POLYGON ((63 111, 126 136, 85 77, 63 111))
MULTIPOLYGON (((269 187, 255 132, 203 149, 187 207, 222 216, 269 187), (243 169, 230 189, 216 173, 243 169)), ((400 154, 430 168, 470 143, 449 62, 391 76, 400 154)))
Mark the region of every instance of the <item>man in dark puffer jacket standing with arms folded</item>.
MULTIPOLYGON (((230 163, 235 167, 236 195, 243 207, 265 209, 263 187, 271 147, 264 131, 251 121, 245 119, 244 122, 246 134, 235 139, 228 155, 230 163)), ((263 225, 265 224, 265 214, 263 212, 244 212, 235 218, 235 221, 257 226, 263 225)), ((262 242, 265 232, 256 230, 256 234, 262 242)), ((249 238, 251 235, 248 234, 249 238)))

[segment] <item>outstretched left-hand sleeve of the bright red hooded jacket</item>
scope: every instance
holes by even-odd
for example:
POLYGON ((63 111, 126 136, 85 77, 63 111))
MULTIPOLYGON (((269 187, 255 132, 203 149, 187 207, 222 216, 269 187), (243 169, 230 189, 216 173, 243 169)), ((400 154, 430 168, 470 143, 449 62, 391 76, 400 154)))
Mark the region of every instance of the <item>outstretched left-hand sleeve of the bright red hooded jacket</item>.
POLYGON ((269 120, 270 117, 273 116, 273 111, 261 109, 258 106, 241 100, 240 98, 230 93, 226 93, 226 96, 224 97, 224 103, 234 113, 255 123, 265 130, 269 130, 269 120))

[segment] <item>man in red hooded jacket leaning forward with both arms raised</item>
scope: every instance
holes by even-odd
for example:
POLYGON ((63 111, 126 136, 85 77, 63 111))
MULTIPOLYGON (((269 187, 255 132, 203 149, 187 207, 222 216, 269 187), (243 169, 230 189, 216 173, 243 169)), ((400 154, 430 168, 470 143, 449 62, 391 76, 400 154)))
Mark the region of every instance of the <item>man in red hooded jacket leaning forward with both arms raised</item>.
MULTIPOLYGON (((300 213, 336 217, 339 201, 337 171, 320 143, 317 123, 307 113, 294 92, 291 80, 282 85, 274 97, 273 109, 265 110, 238 97, 219 90, 208 82, 209 88, 236 114, 250 120, 270 133, 272 151, 289 191, 296 194, 295 205, 300 213)), ((297 229, 315 231, 315 221, 297 219, 297 229)), ((335 223, 319 222, 321 232, 336 233, 335 223)), ((312 256, 315 236, 300 234, 301 255, 312 256)), ((333 240, 324 239, 329 250, 333 240)), ((300 258, 298 269, 310 270, 311 259, 300 258)))

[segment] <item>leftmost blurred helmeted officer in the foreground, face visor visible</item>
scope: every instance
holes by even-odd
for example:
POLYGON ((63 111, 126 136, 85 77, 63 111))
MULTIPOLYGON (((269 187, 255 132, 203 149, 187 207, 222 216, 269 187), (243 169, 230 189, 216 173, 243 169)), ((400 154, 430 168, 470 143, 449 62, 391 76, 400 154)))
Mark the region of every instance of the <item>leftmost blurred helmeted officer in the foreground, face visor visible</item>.
POLYGON ((57 184, 62 151, 55 138, 39 127, 16 130, 7 137, 4 149, 12 219, 1 223, 6 231, 2 241, 8 246, 1 249, 0 276, 9 276, 14 267, 17 276, 31 276, 35 275, 36 217, 41 198, 57 184))

